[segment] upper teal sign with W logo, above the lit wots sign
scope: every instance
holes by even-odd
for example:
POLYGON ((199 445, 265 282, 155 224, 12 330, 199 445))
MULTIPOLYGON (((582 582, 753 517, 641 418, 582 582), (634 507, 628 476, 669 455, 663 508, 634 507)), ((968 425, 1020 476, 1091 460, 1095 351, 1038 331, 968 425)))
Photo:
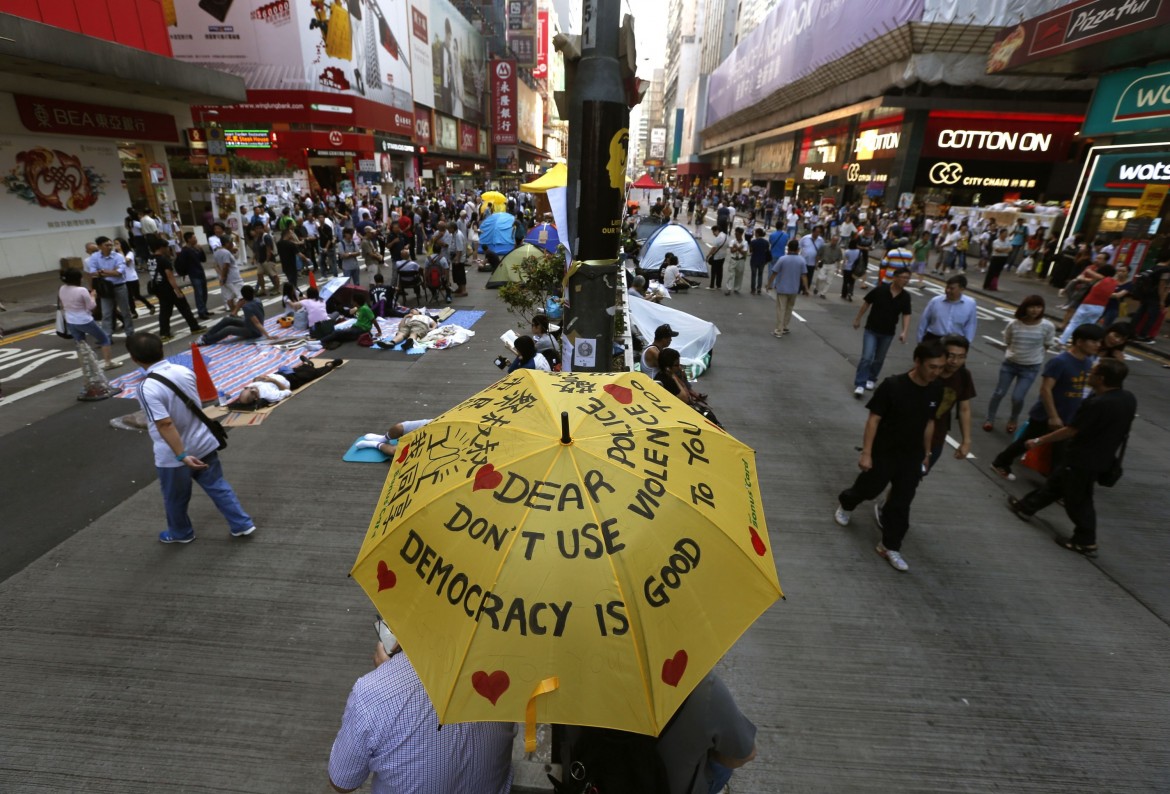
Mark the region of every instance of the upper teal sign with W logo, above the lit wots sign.
POLYGON ((1170 63, 1163 61, 1102 75, 1081 131, 1086 136, 1099 136, 1168 127, 1170 63))

